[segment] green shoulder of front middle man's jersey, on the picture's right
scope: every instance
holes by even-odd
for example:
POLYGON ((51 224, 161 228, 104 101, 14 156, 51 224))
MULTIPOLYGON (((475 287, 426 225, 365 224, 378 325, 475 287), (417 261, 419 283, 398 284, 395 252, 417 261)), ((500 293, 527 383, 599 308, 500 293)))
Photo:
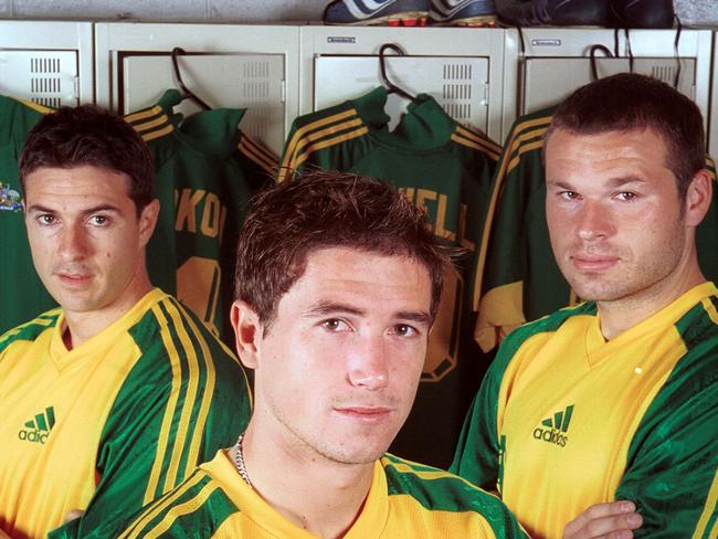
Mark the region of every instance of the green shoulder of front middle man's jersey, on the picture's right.
POLYGON ((517 537, 519 526, 496 496, 454 474, 386 454, 381 459, 389 496, 406 495, 427 510, 477 512, 490 525, 496 537, 517 537))

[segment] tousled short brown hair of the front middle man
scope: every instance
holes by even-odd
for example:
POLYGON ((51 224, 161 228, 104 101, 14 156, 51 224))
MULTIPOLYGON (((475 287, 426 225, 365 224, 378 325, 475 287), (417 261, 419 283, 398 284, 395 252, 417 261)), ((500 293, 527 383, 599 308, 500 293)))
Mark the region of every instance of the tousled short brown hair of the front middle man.
POLYGON ((235 298, 271 327, 277 305, 306 270, 307 256, 326 247, 406 255, 429 270, 431 316, 439 308, 450 253, 425 214, 377 180, 310 171, 260 193, 240 231, 235 298))

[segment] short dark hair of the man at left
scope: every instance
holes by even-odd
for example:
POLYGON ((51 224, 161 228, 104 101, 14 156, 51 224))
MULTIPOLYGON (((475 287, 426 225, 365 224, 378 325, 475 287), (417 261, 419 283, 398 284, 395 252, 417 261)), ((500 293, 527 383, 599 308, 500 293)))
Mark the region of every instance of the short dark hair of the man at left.
POLYGON ((61 107, 30 131, 20 156, 20 182, 42 167, 101 167, 129 177, 137 213, 155 198, 149 148, 122 117, 94 105, 61 107))

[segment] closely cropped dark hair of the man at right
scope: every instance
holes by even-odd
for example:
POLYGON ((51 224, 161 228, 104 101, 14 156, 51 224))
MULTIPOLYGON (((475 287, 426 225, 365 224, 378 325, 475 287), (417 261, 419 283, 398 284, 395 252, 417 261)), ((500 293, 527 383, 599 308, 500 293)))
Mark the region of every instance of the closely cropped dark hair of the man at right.
POLYGON ((657 78, 619 73, 580 87, 559 105, 545 142, 557 129, 595 135, 646 128, 663 138, 665 166, 685 198, 690 180, 706 167, 703 116, 694 102, 657 78))

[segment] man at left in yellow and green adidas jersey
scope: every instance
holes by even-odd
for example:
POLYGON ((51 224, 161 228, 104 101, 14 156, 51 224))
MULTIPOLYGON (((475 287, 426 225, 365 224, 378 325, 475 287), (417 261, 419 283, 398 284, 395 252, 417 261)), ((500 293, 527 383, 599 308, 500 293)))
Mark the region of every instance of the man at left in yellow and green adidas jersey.
POLYGON ((149 282, 159 203, 128 124, 61 108, 32 130, 20 171, 33 262, 60 308, 0 337, 0 535, 45 537, 80 510, 57 537, 112 537, 236 438, 247 381, 149 282))

